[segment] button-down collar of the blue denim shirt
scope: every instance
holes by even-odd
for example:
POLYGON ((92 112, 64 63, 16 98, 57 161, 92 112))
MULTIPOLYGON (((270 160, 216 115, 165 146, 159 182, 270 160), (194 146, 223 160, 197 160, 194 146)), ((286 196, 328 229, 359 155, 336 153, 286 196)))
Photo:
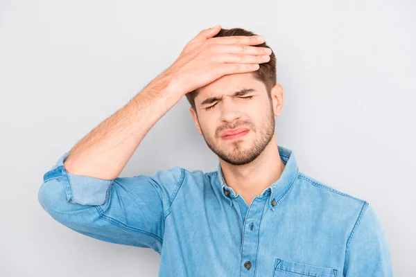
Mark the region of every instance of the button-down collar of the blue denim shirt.
MULTIPOLYGON (((261 197, 267 197, 270 195, 268 199, 268 204, 272 211, 275 211, 275 208, 284 200, 286 195, 290 192, 291 188, 293 188, 292 184, 295 181, 298 173, 297 162, 295 159, 295 154, 293 151, 284 148, 283 146, 277 146, 279 148, 279 155, 281 161, 285 164, 283 172, 275 183, 271 184, 268 188, 263 190, 260 193, 261 197)), ((231 198, 235 198, 238 195, 234 192, 234 190, 227 186, 225 183, 225 179, 223 176, 223 170, 221 169, 221 164, 218 163, 218 180, 220 184, 220 194, 227 199, 230 206, 232 206, 231 198), (227 192, 226 192, 227 191, 227 192), (228 195, 227 195, 228 194, 228 195)))

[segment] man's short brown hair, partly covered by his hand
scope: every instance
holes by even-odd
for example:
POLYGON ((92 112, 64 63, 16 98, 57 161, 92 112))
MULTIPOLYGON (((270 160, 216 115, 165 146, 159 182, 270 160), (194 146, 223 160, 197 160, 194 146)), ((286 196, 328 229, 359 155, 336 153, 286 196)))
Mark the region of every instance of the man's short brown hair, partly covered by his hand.
MULTIPOLYGON (((236 35, 245 35, 245 36, 251 36, 251 35, 257 35, 249 30, 244 30, 242 28, 232 28, 232 29, 223 29, 218 32, 217 35, 214 37, 231 37, 236 35)), ((270 48, 266 42, 263 42, 262 44, 254 45, 256 47, 267 47, 270 48)), ((271 49, 271 48, 270 48, 271 49)), ((257 71, 252 71, 254 73, 254 78, 263 82, 266 85, 266 90, 268 92, 268 97, 271 99, 270 96, 270 90, 272 87, 275 86, 277 80, 276 80, 276 57, 275 53, 270 55, 270 60, 268 62, 263 62, 260 64, 260 68, 257 69, 257 71)), ((197 94, 198 89, 195 89, 193 91, 190 91, 185 96, 187 96, 189 104, 191 104, 191 107, 194 111, 196 111, 196 105, 195 105, 195 98, 197 94)))

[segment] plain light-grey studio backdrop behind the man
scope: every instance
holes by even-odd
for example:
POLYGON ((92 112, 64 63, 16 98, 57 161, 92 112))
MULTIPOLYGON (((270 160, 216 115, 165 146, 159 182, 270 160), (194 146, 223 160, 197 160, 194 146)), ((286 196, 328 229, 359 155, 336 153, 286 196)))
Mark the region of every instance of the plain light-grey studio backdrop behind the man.
MULTIPOLYGON (((277 144, 369 202, 395 276, 416 276, 412 0, 0 1, 0 276, 157 276, 155 251, 76 233, 37 193, 64 152, 216 24, 266 37, 284 88, 277 144)), ((217 165, 183 97, 120 177, 217 165)))

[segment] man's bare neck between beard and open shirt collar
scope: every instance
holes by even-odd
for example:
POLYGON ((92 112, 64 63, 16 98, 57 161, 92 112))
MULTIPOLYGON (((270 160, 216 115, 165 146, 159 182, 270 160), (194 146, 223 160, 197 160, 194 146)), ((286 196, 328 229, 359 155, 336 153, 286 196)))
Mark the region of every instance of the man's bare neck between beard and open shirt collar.
POLYGON ((248 206, 252 199, 280 178, 285 166, 280 159, 275 139, 270 141, 252 163, 232 166, 220 159, 220 165, 227 186, 232 188, 236 195, 241 195, 248 206))

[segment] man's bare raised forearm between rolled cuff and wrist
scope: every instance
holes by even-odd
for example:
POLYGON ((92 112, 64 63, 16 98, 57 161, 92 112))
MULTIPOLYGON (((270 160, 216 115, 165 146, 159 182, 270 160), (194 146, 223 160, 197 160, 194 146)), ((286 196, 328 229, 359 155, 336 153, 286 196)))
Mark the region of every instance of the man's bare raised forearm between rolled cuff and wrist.
POLYGON ((115 179, 148 131, 184 93, 171 78, 159 75, 123 108, 89 132, 64 161, 75 175, 115 179))

